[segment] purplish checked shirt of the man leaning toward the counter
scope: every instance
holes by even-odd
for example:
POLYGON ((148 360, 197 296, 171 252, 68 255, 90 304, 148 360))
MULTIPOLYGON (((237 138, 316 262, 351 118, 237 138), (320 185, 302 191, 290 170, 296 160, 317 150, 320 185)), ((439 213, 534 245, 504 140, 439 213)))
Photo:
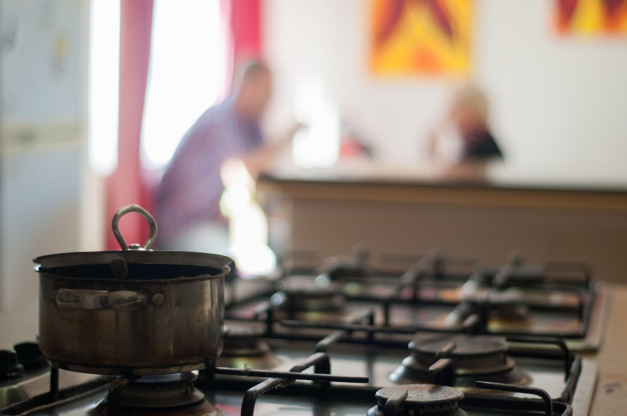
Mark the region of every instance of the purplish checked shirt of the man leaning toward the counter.
POLYGON ((233 98, 206 110, 181 139, 159 185, 155 202, 160 241, 196 224, 221 221, 220 165, 261 143, 258 123, 243 120, 233 98))

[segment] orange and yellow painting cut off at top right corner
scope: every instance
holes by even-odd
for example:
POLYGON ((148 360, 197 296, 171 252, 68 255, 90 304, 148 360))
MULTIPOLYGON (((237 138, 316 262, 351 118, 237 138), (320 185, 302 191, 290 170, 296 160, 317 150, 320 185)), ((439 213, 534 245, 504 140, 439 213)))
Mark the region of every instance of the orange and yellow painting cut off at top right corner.
POLYGON ((627 34, 627 0, 555 0, 562 34, 627 34))

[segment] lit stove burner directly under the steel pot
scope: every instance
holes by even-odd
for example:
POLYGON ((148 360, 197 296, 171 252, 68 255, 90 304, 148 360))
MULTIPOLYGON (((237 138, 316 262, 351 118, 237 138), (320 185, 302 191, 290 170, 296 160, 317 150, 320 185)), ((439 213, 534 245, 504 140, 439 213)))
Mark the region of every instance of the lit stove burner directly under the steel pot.
MULTIPOLYGON (((191 372, 141 377, 122 388, 119 414, 224 416, 206 400, 200 390, 194 388, 194 380, 196 375, 191 372)), ((108 410, 108 401, 102 400, 89 414, 108 415, 108 410)))

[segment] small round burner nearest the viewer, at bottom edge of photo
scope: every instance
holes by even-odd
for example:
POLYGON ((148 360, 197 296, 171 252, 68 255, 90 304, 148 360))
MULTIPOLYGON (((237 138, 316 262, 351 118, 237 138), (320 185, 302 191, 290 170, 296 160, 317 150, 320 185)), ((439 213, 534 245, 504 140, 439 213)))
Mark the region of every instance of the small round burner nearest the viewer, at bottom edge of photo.
POLYGON ((382 388, 375 397, 379 404, 368 410, 367 416, 384 416, 388 400, 398 400, 394 405, 394 415, 428 415, 428 416, 467 416, 458 402, 464 398, 457 388, 433 384, 408 384, 382 388), (403 395, 407 397, 403 400, 403 395), (401 412, 398 412, 401 410, 401 412))

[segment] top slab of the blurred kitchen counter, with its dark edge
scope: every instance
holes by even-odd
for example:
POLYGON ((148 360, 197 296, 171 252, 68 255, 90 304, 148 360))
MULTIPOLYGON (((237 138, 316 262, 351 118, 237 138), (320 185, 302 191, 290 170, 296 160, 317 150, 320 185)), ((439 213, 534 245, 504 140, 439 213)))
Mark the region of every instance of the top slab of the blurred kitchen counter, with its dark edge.
MULTIPOLYGON (((488 165, 485 178, 460 179, 443 177, 443 169, 432 165, 394 166, 367 160, 343 162, 327 169, 298 169, 290 164, 275 166, 259 177, 260 184, 267 189, 276 185, 281 189, 297 192, 305 189, 310 197, 329 197, 343 194, 346 199, 429 200, 430 197, 444 197, 438 190, 458 191, 456 200, 466 202, 468 195, 487 195, 483 204, 507 203, 505 195, 542 195, 542 199, 526 199, 517 204, 551 205, 561 200, 576 206, 592 204, 603 208, 627 211, 627 181, 598 179, 593 176, 574 177, 565 174, 530 175, 520 170, 505 169, 501 164, 488 165), (371 194, 374 188, 388 189, 384 194, 371 194), (354 189, 357 192, 349 192, 354 189), (411 190, 419 191, 412 194, 411 190), (403 195, 399 194, 399 191, 403 195), (472 191, 473 194, 469 194, 472 191), (519 194, 515 194, 518 192, 519 194), (589 194, 589 195, 587 195, 589 194), (592 197, 590 197, 592 196, 592 197), (546 200, 546 198, 549 200, 546 200), (596 202, 596 204, 594 203, 596 202)), ((475 197, 475 199, 478 199, 475 197)), ((587 205, 586 205, 587 206, 587 205)))

